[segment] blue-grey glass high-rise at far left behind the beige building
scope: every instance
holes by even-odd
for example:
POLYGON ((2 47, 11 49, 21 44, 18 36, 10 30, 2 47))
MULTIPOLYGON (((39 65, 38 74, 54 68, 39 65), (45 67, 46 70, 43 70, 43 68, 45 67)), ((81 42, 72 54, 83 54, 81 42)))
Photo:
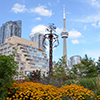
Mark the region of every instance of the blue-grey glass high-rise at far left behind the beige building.
POLYGON ((22 21, 8 21, 0 27, 0 44, 5 42, 5 39, 18 36, 21 37, 21 24, 22 21))

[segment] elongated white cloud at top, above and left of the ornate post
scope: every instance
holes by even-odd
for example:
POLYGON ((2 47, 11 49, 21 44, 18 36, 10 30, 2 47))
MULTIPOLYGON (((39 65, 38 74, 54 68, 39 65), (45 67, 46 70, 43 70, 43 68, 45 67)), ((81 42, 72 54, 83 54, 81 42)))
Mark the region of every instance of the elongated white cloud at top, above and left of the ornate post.
POLYGON ((37 14, 42 15, 42 16, 49 16, 50 17, 52 15, 52 11, 47 10, 46 8, 47 8, 46 6, 39 5, 36 8, 30 9, 29 12, 30 13, 37 13, 37 14))

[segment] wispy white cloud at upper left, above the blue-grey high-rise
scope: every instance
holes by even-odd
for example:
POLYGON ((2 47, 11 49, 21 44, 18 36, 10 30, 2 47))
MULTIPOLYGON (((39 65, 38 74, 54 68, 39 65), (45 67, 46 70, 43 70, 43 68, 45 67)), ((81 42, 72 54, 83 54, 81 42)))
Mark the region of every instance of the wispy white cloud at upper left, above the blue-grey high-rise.
POLYGON ((25 5, 20 5, 18 3, 16 3, 12 9, 11 9, 14 13, 22 13, 22 12, 25 12, 27 9, 25 8, 25 5))

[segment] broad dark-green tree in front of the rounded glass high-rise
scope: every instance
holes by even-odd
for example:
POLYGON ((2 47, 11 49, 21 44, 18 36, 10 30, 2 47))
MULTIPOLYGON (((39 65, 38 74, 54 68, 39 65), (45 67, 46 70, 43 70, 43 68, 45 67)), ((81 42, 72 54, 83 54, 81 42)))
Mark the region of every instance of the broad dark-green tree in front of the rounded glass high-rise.
POLYGON ((95 77, 97 76, 97 70, 95 62, 85 55, 85 58, 81 59, 80 63, 73 65, 71 74, 76 77, 95 77))

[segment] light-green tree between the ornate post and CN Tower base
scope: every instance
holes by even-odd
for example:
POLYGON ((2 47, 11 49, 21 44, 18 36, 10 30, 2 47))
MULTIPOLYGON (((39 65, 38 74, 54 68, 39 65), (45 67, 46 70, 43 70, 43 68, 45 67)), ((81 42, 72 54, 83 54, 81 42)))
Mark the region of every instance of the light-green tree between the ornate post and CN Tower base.
POLYGON ((59 61, 53 67, 53 78, 58 79, 60 81, 64 81, 67 79, 67 62, 65 60, 65 56, 59 58, 59 61))

